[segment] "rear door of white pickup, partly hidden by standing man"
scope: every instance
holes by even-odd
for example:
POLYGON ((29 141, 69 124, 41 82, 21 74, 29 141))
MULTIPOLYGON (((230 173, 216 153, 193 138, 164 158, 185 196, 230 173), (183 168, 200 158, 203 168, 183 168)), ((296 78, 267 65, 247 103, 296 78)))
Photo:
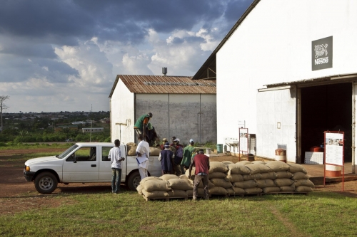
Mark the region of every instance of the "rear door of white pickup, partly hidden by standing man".
MULTIPOLYGON (((99 161, 99 180, 100 181, 111 181, 111 160, 108 158, 109 151, 113 147, 101 147, 101 160, 99 161)), ((125 145, 121 145, 121 157, 126 158, 125 145)), ((125 181, 126 176, 126 160, 121 162, 121 181, 125 181)))

